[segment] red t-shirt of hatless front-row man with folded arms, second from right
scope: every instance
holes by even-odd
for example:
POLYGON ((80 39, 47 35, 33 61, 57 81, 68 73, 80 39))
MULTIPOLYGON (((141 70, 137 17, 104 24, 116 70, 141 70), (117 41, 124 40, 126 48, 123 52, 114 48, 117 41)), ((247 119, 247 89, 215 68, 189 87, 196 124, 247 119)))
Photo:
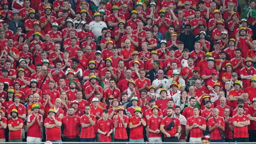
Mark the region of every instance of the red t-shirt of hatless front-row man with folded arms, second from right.
MULTIPOLYGON (((247 115, 242 115, 241 117, 238 115, 234 115, 232 117, 232 124, 234 122, 245 122, 245 121, 249 121, 249 117, 247 115)), ((248 126, 243 126, 243 127, 236 127, 234 126, 234 138, 248 138, 249 134, 248 134, 248 126)))

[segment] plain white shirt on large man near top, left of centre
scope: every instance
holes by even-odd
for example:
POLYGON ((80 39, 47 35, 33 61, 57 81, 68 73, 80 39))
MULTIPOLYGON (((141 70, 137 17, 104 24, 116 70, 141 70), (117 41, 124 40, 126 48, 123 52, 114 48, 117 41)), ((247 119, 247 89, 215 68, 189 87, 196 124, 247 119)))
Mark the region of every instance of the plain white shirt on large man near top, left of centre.
POLYGON ((96 39, 98 38, 98 36, 102 35, 101 30, 103 28, 107 28, 106 23, 103 22, 103 21, 99 21, 99 22, 92 21, 92 22, 89 23, 89 26, 90 26, 89 30, 92 30, 96 39))

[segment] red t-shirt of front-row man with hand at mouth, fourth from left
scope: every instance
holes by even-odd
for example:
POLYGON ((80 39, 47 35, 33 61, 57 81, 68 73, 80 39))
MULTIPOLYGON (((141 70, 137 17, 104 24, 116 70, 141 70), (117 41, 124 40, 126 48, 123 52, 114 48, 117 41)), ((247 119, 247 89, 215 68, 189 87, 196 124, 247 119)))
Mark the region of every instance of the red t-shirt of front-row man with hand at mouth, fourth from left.
MULTIPOLYGON (((56 118, 57 121, 61 122, 60 118, 56 118)), ((45 124, 55 124, 54 120, 50 119, 50 118, 45 118, 45 122, 44 122, 44 126, 45 124)), ((45 128, 45 135, 46 135, 46 140, 61 140, 60 138, 60 134, 61 134, 61 130, 60 127, 54 126, 52 128, 45 128)))

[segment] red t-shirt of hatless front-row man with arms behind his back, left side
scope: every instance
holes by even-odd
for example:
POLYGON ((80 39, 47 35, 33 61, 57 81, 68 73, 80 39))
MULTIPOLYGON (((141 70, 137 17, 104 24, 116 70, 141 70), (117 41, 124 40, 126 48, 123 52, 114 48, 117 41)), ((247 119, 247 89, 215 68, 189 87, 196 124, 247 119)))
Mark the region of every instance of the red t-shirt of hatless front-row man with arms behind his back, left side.
POLYGON ((67 138, 76 138, 79 134, 80 117, 79 116, 65 116, 62 120, 64 126, 63 134, 67 138))

